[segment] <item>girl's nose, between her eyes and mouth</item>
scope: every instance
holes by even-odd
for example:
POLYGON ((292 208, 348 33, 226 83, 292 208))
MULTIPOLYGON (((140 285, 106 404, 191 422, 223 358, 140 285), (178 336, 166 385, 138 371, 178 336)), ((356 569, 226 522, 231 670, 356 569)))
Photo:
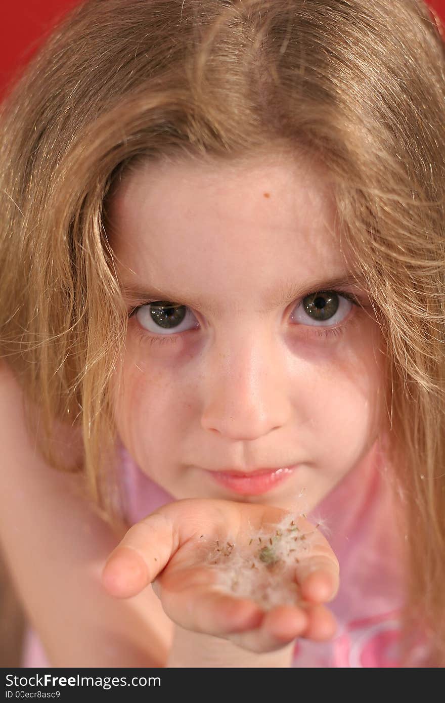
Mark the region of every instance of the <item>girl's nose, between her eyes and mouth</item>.
POLYGON ((252 440, 287 423, 289 380, 276 341, 250 333, 214 344, 205 365, 201 424, 231 440, 252 440))

